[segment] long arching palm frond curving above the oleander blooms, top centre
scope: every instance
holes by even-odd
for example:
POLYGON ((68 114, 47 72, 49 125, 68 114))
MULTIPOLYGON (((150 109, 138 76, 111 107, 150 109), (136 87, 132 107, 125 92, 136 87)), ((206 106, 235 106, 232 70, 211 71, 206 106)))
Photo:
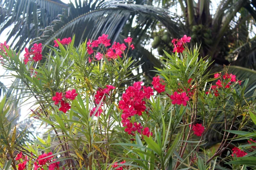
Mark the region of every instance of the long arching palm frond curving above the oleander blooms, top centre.
POLYGON ((95 39, 101 34, 108 34, 109 38, 115 41, 132 14, 139 15, 143 18, 143 21, 149 19, 160 21, 169 32, 178 35, 178 27, 172 21, 172 17, 160 8, 136 4, 108 3, 108 8, 95 9, 85 11, 87 13, 79 15, 73 20, 71 20, 73 17, 60 15, 60 19, 54 20, 51 26, 45 28, 42 36, 35 42, 52 45, 55 37, 72 37, 73 34, 80 38, 79 41, 75 42, 76 45, 86 38, 95 39))

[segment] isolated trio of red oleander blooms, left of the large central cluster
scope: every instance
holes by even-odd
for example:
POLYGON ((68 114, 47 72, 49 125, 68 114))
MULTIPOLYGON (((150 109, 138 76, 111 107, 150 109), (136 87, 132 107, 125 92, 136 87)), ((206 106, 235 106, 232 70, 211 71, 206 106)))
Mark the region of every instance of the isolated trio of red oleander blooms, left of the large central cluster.
POLYGON ((60 102, 61 107, 59 108, 59 111, 63 111, 64 113, 66 113, 71 108, 68 99, 74 100, 77 95, 78 94, 76 93, 76 89, 73 89, 72 91, 67 91, 64 96, 62 92, 56 92, 55 96, 52 97, 52 100, 54 101, 54 105, 58 105, 58 103, 60 102))

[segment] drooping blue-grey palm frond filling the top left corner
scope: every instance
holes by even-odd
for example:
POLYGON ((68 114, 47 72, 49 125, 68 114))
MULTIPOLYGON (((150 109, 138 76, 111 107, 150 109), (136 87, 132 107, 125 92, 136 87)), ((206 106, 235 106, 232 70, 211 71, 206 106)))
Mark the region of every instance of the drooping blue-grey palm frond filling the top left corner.
POLYGON ((58 14, 62 14, 63 8, 68 6, 60 0, 2 0, 0 34, 12 28, 7 41, 14 38, 10 44, 22 49, 32 38, 40 35, 38 29, 49 26, 58 14))

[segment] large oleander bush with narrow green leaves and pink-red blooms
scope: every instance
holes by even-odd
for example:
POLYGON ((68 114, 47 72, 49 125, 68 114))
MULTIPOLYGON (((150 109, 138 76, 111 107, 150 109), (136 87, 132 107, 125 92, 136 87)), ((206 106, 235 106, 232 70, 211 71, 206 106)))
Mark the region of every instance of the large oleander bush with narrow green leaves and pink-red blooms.
POLYGON ((111 46, 103 34, 74 47, 75 37, 56 39, 46 55, 42 44, 34 44, 23 59, 20 51, 3 46, 3 67, 23 82, 26 96, 35 98, 31 118, 47 132, 17 144, 16 128, 10 130, 6 121, 9 102, 4 98, 1 167, 232 169, 225 163, 254 154, 235 147, 237 136, 230 131, 243 130, 250 123, 248 114, 255 112, 255 100, 246 97, 248 79, 239 81, 227 68, 211 75, 212 63, 199 57, 197 46, 187 47, 189 37, 182 37, 175 42, 182 44, 181 51, 165 52, 164 68, 157 68, 151 84, 138 82, 132 74, 135 60, 128 56, 134 44, 131 37, 124 41, 111 46), (220 123, 221 143, 215 150, 205 149, 207 131, 220 123))

